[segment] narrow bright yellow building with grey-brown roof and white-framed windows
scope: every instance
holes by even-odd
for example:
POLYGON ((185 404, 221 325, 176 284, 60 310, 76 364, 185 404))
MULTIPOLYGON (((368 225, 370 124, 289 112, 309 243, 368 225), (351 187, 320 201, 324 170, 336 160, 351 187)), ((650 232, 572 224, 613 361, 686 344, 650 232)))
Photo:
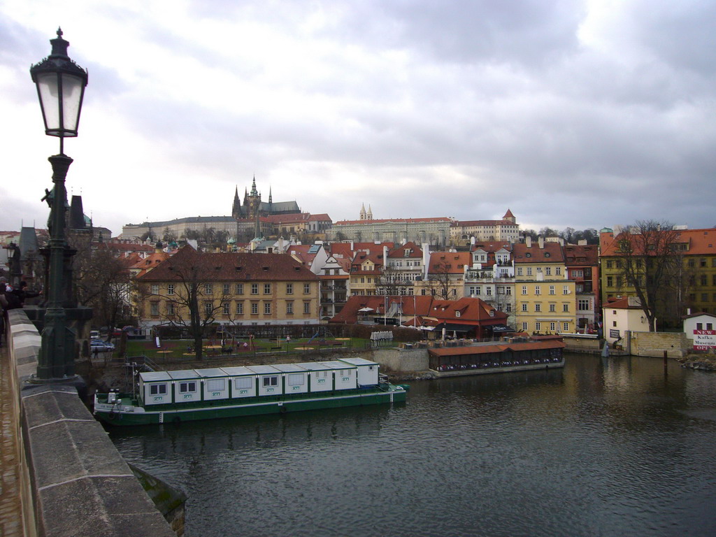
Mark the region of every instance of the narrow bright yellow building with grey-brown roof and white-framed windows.
POLYGON ((513 250, 515 260, 516 328, 556 334, 576 331, 576 282, 566 279, 563 248, 558 243, 533 244, 529 237, 513 250))

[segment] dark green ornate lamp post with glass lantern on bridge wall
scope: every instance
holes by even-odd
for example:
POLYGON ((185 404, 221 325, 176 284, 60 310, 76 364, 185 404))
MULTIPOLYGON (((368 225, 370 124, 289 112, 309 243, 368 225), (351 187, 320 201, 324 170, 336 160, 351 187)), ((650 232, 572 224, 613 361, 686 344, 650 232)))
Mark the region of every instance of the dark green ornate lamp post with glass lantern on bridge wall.
POLYGON ((34 382, 73 381, 74 332, 67 325, 64 309, 64 234, 67 190, 64 179, 72 159, 64 154, 64 138, 77 136, 79 112, 82 109, 87 71, 67 56, 69 42, 62 39, 62 29, 57 38, 50 39, 52 52, 42 62, 30 67, 32 82, 37 84, 37 95, 42 108, 45 134, 59 137, 59 155, 49 157, 52 165, 52 192, 45 190, 50 207, 49 226, 49 282, 47 311, 44 316, 42 345, 37 361, 37 377, 34 382))

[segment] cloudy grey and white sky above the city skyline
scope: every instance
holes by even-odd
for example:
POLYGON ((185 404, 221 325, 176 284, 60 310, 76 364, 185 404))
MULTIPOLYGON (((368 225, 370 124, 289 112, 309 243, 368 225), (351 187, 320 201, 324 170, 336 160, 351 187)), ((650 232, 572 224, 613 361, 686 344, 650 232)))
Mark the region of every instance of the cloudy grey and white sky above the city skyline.
POLYGON ((29 67, 89 70, 69 193, 96 225, 231 213, 251 178, 334 221, 716 226, 716 2, 3 0, 0 229, 52 185, 29 67))

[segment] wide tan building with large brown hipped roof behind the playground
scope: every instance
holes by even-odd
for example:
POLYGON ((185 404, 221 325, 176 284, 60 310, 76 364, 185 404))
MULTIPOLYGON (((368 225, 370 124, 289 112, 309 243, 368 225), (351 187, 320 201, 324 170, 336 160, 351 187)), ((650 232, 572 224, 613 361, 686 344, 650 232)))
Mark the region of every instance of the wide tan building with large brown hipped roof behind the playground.
POLYGON ((316 324, 319 279, 279 253, 200 253, 181 248, 137 278, 140 324, 316 324), (195 304, 190 308, 190 304, 195 304))

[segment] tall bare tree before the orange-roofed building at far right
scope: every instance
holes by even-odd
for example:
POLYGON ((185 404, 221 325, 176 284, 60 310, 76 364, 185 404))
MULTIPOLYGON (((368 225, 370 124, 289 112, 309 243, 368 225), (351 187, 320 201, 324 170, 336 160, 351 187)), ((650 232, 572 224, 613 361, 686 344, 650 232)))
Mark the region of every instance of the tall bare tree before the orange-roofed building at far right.
POLYGON ((684 281, 678 236, 671 223, 654 220, 637 221, 616 236, 620 276, 639 299, 650 332, 673 299, 667 291, 681 289, 684 281))

